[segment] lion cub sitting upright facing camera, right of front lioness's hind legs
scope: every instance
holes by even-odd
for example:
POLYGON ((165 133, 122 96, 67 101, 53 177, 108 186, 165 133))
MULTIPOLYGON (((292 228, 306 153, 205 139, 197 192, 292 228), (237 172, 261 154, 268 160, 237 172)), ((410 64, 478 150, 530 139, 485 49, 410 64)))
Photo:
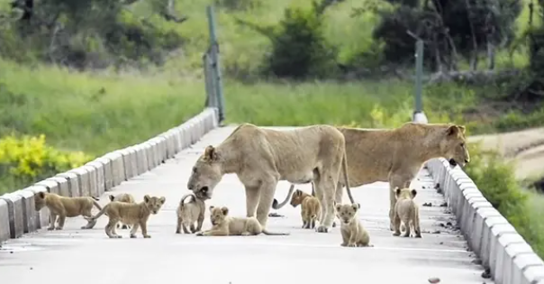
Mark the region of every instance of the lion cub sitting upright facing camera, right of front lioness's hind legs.
POLYGON ((358 203, 337 204, 336 215, 340 219, 340 233, 342 234, 341 246, 373 246, 370 243, 370 236, 363 224, 357 218, 360 208, 358 203))

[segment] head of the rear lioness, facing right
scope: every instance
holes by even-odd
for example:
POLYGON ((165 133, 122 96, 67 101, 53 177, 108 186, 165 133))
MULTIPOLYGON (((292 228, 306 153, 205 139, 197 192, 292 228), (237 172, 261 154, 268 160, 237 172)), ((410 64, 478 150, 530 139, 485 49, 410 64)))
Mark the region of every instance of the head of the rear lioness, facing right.
POLYGON ((449 124, 440 139, 440 154, 449 159, 451 168, 459 165, 464 167, 470 162, 465 137, 465 126, 449 124))

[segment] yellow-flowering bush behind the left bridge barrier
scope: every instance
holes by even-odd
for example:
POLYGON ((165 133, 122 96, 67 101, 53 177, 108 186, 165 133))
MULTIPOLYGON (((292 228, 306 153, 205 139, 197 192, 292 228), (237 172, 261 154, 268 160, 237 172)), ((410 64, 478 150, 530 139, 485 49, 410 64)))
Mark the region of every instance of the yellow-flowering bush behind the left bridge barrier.
POLYGON ((91 159, 81 151, 59 151, 48 146, 43 134, 5 136, 0 139, 0 192, 27 187, 91 159))

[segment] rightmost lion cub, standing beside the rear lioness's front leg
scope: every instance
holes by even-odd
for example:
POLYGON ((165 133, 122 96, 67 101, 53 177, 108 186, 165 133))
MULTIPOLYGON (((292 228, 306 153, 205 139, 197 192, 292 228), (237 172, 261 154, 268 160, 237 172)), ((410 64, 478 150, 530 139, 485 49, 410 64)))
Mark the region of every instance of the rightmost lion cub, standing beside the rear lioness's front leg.
POLYGON ((409 188, 395 188, 394 197, 396 198, 396 204, 394 205, 394 233, 393 235, 401 235, 401 221, 405 228, 403 234, 404 237, 409 237, 411 231, 413 231, 416 238, 422 237, 422 231, 420 229, 420 209, 413 201, 413 198, 417 195, 417 190, 409 188))

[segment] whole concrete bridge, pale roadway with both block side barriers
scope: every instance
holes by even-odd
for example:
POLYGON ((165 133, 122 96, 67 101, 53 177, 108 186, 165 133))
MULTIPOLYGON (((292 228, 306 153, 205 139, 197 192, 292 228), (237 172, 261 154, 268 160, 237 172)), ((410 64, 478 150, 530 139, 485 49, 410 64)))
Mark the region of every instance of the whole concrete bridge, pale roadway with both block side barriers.
MULTIPOLYGON (((431 160, 413 181, 419 190, 422 239, 394 237, 388 228, 388 185, 352 188, 361 205, 370 248, 340 247, 339 228, 318 234, 301 228, 300 207, 285 206, 267 227, 289 236, 199 237, 175 234, 176 208, 204 147, 222 142, 232 126, 217 127, 217 109, 203 113, 150 141, 113 151, 77 169, 0 197, 2 283, 147 284, 354 283, 544 284, 544 263, 482 196, 461 169, 431 160), (166 197, 149 221, 150 239, 104 234, 107 217, 81 230, 82 217, 68 218, 62 231, 47 231, 49 212, 34 210, 33 193, 64 196, 131 193, 166 197), (489 271, 485 271, 485 269, 489 271), (492 279, 483 278, 488 274, 492 279)), ((276 197, 286 197, 282 181, 276 197)), ((310 192, 308 186, 300 186, 310 192)), ((346 196, 346 195, 345 195, 346 196)), ((348 201, 347 197, 346 201, 348 201)), ((245 194, 234 175, 223 177, 207 206, 229 206, 245 215, 245 194)), ((207 210, 206 210, 207 211, 207 210)), ((96 210, 94 209, 94 214, 96 210)), ((273 211, 272 211, 273 212, 273 211)), ((206 212, 204 229, 211 226, 206 212)))

